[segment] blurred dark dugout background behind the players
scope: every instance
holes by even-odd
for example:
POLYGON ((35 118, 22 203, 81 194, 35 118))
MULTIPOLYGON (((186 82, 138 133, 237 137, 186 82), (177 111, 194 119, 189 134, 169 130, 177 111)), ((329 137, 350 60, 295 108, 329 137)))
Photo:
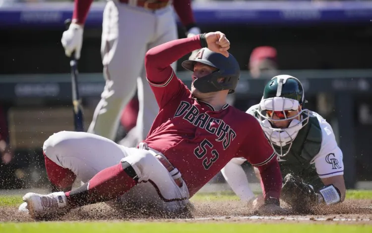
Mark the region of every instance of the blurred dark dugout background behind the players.
MULTIPOLYGON (((96 0, 91 7, 79 61, 86 126, 104 87, 104 5, 96 0)), ((70 67, 61 45, 72 9, 73 1, 0 0, 0 189, 48 188, 43 142, 73 130, 70 67)), ((193 9, 203 32, 227 34, 240 62, 243 73, 231 104, 246 111, 276 73, 299 78, 308 108, 336 133, 348 188, 370 188, 372 0, 194 0, 193 9)), ((180 24, 179 37, 185 37, 180 24)), ((190 85, 181 62, 177 74, 190 85)), ((256 182, 251 167, 245 168, 256 182)), ((226 188, 224 182, 218 175, 209 185, 226 188)))

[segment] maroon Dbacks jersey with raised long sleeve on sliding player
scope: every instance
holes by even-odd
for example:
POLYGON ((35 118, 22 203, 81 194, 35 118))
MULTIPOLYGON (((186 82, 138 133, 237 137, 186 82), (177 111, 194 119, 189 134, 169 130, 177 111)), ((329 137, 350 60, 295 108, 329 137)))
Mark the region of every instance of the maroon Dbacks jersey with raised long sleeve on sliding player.
POLYGON ((253 116, 228 104, 216 111, 177 78, 169 64, 198 48, 198 36, 176 40, 151 49, 145 59, 160 110, 144 142, 178 168, 190 196, 233 157, 244 157, 253 166, 275 157, 253 116))

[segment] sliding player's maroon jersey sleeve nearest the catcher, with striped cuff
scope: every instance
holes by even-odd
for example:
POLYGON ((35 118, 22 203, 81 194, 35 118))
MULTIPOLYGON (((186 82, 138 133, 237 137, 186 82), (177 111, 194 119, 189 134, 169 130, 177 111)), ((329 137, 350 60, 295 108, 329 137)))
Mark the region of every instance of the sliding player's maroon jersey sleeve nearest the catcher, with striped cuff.
POLYGON ((242 143, 237 157, 246 158, 254 167, 265 165, 276 157, 261 126, 254 117, 251 118, 247 130, 249 133, 242 143))

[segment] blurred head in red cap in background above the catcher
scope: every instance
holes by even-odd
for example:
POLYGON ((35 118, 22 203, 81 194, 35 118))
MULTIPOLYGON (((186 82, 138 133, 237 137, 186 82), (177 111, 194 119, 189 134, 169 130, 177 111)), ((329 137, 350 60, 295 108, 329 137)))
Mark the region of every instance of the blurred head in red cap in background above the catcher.
POLYGON ((278 69, 276 49, 270 46, 254 48, 250 54, 248 67, 252 78, 274 77, 278 69))

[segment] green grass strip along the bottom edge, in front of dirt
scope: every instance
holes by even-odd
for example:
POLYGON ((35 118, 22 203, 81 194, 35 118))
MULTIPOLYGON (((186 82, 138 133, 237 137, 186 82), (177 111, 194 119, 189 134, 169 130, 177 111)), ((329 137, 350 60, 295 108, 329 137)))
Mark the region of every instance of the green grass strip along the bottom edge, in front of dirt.
POLYGON ((42 222, 0 224, 1 233, 372 233, 368 225, 247 224, 247 223, 129 223, 42 222))

